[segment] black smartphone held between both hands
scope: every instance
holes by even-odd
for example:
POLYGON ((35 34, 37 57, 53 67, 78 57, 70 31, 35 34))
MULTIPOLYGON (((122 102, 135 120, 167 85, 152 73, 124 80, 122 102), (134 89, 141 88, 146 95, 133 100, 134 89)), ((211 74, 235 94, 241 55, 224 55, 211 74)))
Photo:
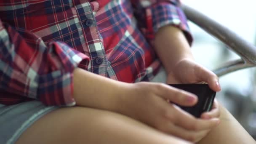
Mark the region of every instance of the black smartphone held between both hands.
POLYGON ((208 84, 169 84, 175 88, 194 93, 198 97, 197 104, 192 107, 184 107, 179 104, 177 106, 189 112, 195 117, 200 117, 203 112, 208 112, 213 106, 216 92, 209 88, 208 84))

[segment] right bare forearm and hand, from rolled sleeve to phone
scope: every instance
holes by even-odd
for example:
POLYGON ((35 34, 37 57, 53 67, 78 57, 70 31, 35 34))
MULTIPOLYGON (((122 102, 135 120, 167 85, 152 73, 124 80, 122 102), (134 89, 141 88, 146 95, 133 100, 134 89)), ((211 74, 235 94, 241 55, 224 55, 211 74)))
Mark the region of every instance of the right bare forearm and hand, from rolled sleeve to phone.
MULTIPOLYGON (((221 90, 218 77, 195 63, 189 43, 181 29, 171 25, 159 29, 155 36, 155 51, 168 72, 168 84, 206 82, 213 91, 221 90)), ((201 117, 204 120, 208 117, 219 118, 219 113, 215 102, 211 112, 204 113, 201 117)), ((210 129, 200 131, 196 141, 202 139, 209 131, 210 129)))

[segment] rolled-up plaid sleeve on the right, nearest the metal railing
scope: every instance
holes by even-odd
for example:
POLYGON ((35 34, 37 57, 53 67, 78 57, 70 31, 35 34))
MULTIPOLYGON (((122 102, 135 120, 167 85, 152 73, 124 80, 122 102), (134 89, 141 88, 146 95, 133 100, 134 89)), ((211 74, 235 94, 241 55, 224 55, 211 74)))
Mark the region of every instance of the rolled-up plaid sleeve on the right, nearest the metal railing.
POLYGON ((146 21, 147 37, 153 37, 152 35, 155 35, 161 27, 172 25, 181 29, 189 44, 192 44, 187 18, 181 9, 179 0, 132 0, 132 3, 137 19, 139 19, 138 22, 146 21))

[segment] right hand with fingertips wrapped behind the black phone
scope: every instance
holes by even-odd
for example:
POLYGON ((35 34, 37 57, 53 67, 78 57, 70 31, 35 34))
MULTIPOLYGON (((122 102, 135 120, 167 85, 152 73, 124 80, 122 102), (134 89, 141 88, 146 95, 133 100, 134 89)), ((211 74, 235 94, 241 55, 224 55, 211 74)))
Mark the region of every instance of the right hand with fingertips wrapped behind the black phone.
MULTIPOLYGON (((220 91, 219 79, 218 77, 206 69, 205 67, 195 63, 195 61, 190 59, 183 59, 179 61, 173 70, 168 72, 168 78, 166 83, 208 83, 209 87, 213 91, 220 91)), ((214 100, 213 108, 210 112, 204 112, 201 115, 202 119, 211 119, 211 118, 219 118, 220 117, 220 109, 217 100, 214 100)), ((209 131, 204 131, 202 136, 206 136, 209 131)), ((202 138, 203 138, 202 137, 202 138)), ((200 139, 199 139, 200 140, 200 139)))

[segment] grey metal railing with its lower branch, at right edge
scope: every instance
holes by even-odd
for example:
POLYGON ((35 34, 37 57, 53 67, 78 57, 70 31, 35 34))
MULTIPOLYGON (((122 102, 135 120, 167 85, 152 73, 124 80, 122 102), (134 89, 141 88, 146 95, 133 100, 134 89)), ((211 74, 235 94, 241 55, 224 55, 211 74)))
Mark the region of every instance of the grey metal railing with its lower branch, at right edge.
POLYGON ((197 10, 184 4, 182 9, 189 21, 216 37, 240 56, 241 59, 228 61, 218 69, 213 70, 216 75, 222 76, 229 72, 256 66, 256 47, 254 45, 197 10))

